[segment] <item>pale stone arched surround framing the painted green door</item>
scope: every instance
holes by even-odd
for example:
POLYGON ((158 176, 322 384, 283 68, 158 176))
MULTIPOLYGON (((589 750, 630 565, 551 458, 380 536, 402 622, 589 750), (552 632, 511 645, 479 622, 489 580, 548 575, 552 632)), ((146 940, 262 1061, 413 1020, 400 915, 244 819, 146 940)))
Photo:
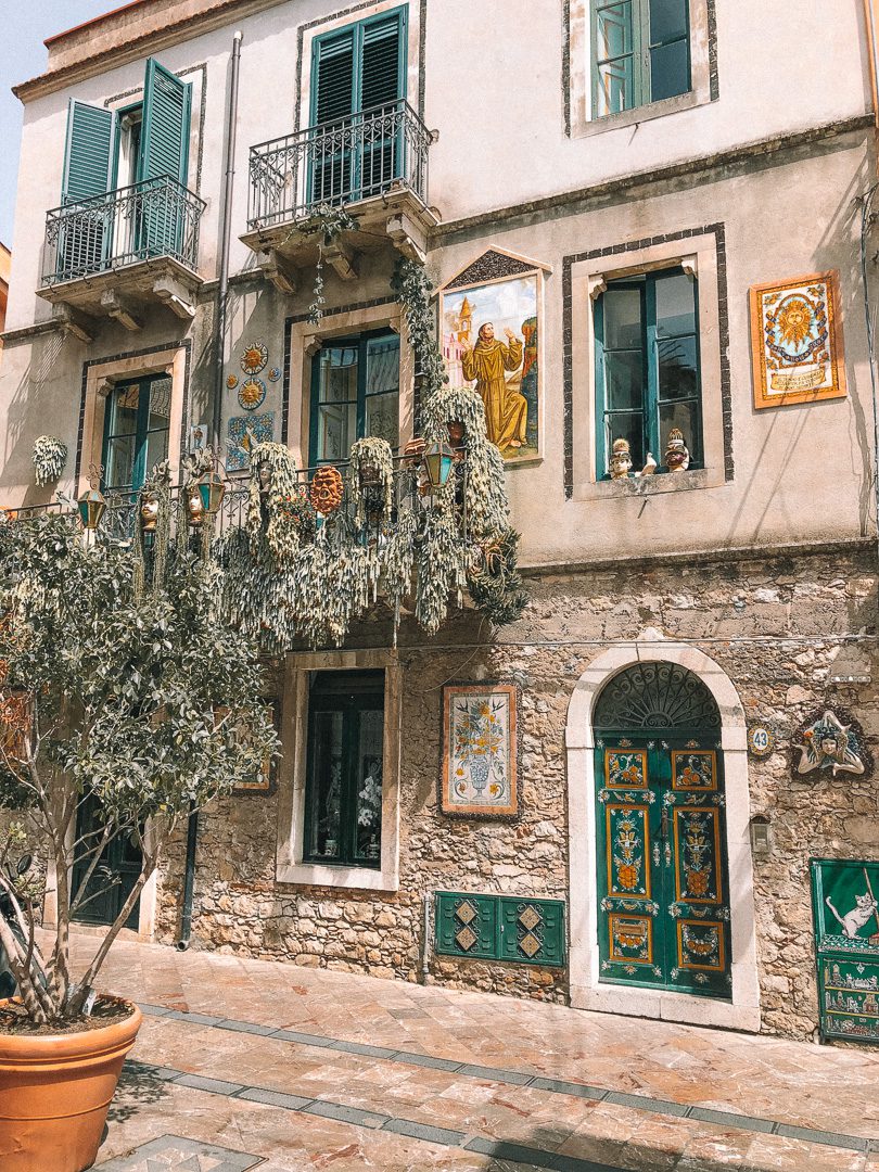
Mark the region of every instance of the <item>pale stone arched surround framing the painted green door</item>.
POLYGON ((694 1026, 717 1026, 758 1033, 759 982, 755 945, 754 867, 750 844, 748 732, 732 681, 699 648, 665 640, 647 629, 635 642, 619 643, 598 655, 574 686, 565 727, 568 803, 570 982, 571 1006, 694 1026), (679 663, 697 675, 721 713, 721 751, 727 791, 732 997, 716 1001, 684 993, 602 984, 598 947, 595 859, 595 765, 592 714, 609 679, 638 662, 679 663))

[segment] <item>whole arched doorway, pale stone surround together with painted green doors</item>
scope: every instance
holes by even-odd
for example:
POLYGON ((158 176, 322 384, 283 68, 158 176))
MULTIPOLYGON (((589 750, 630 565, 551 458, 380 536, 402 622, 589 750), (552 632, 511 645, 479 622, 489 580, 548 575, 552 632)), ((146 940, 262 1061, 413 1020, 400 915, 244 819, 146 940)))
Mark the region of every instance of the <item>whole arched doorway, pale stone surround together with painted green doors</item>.
MULTIPOLYGON (((632 1014, 642 1017, 665 1018, 667 1021, 693 1022, 722 1026, 731 1029, 759 1029, 759 988, 757 981, 757 961, 755 948, 754 915, 754 875, 749 837, 750 804, 748 791, 748 752, 747 725, 744 710, 735 687, 724 670, 703 652, 688 643, 667 640, 657 631, 648 629, 634 642, 620 643, 599 654, 582 673, 574 686, 568 706, 567 725, 565 730, 567 757, 567 796, 568 796, 568 909, 570 909, 570 990, 571 1004, 575 1008, 600 1010, 606 1013, 632 1014), (647 670, 647 669, 650 670, 647 670), (691 734, 691 735, 688 735, 691 734), (696 735, 701 734, 701 735, 696 735), (625 744, 622 742, 631 742, 625 744), (650 748, 653 742, 653 749, 650 748), (665 742, 665 744, 663 744, 665 742), (682 742, 682 743, 681 743, 682 742), (697 748, 688 742, 696 742, 697 748), (611 758, 609 752, 642 754, 634 761, 625 762, 611 758), (681 754, 673 763, 672 752, 681 754), (655 754, 652 761, 650 754, 655 754), (702 757, 713 754, 713 757, 702 757), (687 756, 695 756, 688 762, 687 756), (626 778, 619 776, 634 765, 635 775, 626 778), (633 786, 639 782, 638 769, 646 768, 647 784, 633 786), (710 778, 707 766, 714 770, 710 778), (673 786, 673 768, 677 770, 677 786, 673 786), (622 785, 608 785, 609 770, 613 779, 625 782, 622 785), (687 774, 687 770, 690 770, 687 774), (704 776, 702 776, 704 775, 704 776), (655 786, 653 779, 655 777, 655 786), (682 789, 690 785, 693 789, 682 789), (707 789, 716 785, 716 789, 707 789), (699 786, 699 788, 696 788, 699 786), (608 796, 600 800, 601 793, 608 796), (632 795, 634 800, 622 799, 620 795, 632 795), (650 800, 650 795, 653 799, 650 800), (668 802, 666 803, 666 797, 668 802), (706 802, 711 796, 713 800, 706 802), (687 800, 690 799, 690 800, 687 800), (615 886, 619 895, 611 899, 607 875, 607 808, 616 804, 624 809, 619 819, 626 817, 626 806, 646 806, 646 826, 649 832, 653 819, 653 836, 647 841, 649 864, 645 859, 640 875, 643 884, 635 883, 635 888, 645 886, 647 870, 650 868, 650 901, 659 904, 656 894, 662 894, 670 887, 676 897, 677 874, 675 873, 675 846, 672 838, 675 819, 677 820, 679 843, 686 834, 690 815, 686 811, 708 809, 720 811, 720 817, 703 820, 703 829, 710 824, 711 832, 716 826, 720 845, 715 857, 720 857, 720 870, 715 877, 710 873, 696 878, 699 866, 690 866, 693 881, 702 887, 700 895, 691 887, 682 887, 681 894, 708 899, 720 894, 720 899, 696 904, 690 899, 669 898, 665 900, 667 920, 661 929, 653 927, 659 914, 647 917, 645 906, 647 893, 625 890, 615 886), (666 836, 663 838, 662 810, 666 808, 666 836), (676 810, 682 811, 675 813, 676 810), (683 819, 683 820, 682 820, 683 819), (670 851, 670 861, 666 864, 666 843, 670 851), (654 846, 659 847, 660 867, 666 871, 655 880, 654 846), (599 859, 602 870, 599 872, 599 859), (713 878, 720 878, 723 884, 720 893, 713 887, 713 878), (635 898, 633 898, 633 895, 635 898), (625 904, 628 902, 629 907, 625 904), (604 906, 602 906, 604 904, 604 906), (612 905, 619 904, 619 907, 612 905), (681 914, 672 914, 669 905, 677 907, 681 914), (687 911, 687 914, 682 914, 687 911), (689 914, 695 909, 699 914, 689 914), (727 913, 729 919, 727 919, 727 913), (715 914, 716 913, 716 914, 715 914), (631 917, 632 924, 612 925, 609 915, 631 917), (649 918, 650 927, 636 922, 638 918, 649 918), (600 924, 601 918, 601 924, 600 924), (711 968, 688 967, 683 969, 687 977, 681 981, 681 966, 674 963, 676 955, 680 920, 691 920, 704 925, 722 924, 720 935, 724 956, 723 967, 718 967, 717 958, 711 961, 711 968), (652 966, 648 980, 639 979, 646 963, 635 974, 627 973, 625 967, 619 970, 602 966, 604 960, 612 960, 612 928, 622 928, 626 938, 624 949, 616 952, 625 958, 624 966, 633 960, 633 954, 643 950, 643 939, 655 932, 652 945, 653 955, 659 958, 661 933, 662 962, 652 966), (627 932, 626 928, 629 928, 627 932), (673 959, 668 960, 668 949, 673 959), (653 969, 659 969, 656 974, 653 969), (679 973, 672 975, 672 969, 679 973), (616 974, 616 975, 615 975, 616 974), (704 974, 706 981, 697 981, 697 974, 704 974), (634 976, 634 980, 632 977, 634 976)), ((612 818, 612 834, 614 827, 612 818)), ((632 831, 624 827, 627 834, 632 831)), ((694 826, 691 858, 679 859, 683 867, 680 875, 682 883, 690 881, 686 874, 686 863, 695 863, 701 850, 702 831, 694 826)), ((638 822, 634 823, 638 843, 638 822)), ((636 852, 635 852, 636 853, 636 852)), ((620 856, 621 857, 621 856, 620 856)), ((625 865, 624 860, 624 865, 625 865)), ((703 867, 702 871, 706 868, 703 867)), ((631 883, 632 872, 625 872, 624 878, 631 883)), ((650 908, 649 911, 653 911, 650 908)), ((619 934, 619 932, 618 932, 619 934)), ((684 943, 691 958, 701 950, 706 955, 709 933, 688 931, 684 943), (693 949, 691 945, 696 948, 693 949)), ((635 959, 646 960, 635 955, 635 959)), ((633 967, 629 963, 629 967, 633 967)))

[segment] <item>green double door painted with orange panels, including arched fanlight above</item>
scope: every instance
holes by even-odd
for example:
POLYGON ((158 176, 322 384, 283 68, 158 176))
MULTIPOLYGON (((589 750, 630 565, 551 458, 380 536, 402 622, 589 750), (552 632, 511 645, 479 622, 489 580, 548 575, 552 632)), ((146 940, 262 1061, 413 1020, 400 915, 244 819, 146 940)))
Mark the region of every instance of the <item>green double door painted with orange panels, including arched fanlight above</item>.
POLYGON ((730 1000, 721 716, 676 663, 634 663, 593 715, 601 980, 730 1000))

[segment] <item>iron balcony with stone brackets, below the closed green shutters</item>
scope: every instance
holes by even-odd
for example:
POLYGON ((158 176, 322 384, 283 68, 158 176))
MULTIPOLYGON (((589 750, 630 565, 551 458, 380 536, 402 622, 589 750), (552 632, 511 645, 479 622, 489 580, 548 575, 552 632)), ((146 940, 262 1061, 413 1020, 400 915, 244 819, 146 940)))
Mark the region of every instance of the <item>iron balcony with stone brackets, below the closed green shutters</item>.
MULTIPOLYGON (((309 232, 321 209, 348 209, 362 229, 383 227, 407 255, 423 260, 427 233, 438 219, 428 206, 428 152, 432 135, 406 101, 309 127, 251 148, 248 247, 263 253, 267 275, 291 292, 293 274, 277 280, 278 258, 314 247, 309 232)), ((341 263, 328 260, 343 279, 356 270, 346 250, 368 247, 367 233, 347 233, 341 263)), ((281 270, 284 268, 281 264, 281 270)))

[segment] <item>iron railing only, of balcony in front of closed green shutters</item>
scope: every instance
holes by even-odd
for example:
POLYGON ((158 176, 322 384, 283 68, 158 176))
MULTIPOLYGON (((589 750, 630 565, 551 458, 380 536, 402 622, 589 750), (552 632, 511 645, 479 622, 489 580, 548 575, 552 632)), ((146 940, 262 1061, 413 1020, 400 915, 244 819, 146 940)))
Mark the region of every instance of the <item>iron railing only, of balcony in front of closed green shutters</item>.
POLYGON ((427 203, 430 131, 404 101, 251 148, 251 230, 404 184, 427 203))

